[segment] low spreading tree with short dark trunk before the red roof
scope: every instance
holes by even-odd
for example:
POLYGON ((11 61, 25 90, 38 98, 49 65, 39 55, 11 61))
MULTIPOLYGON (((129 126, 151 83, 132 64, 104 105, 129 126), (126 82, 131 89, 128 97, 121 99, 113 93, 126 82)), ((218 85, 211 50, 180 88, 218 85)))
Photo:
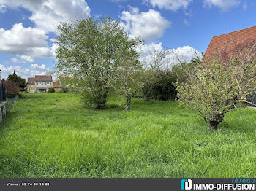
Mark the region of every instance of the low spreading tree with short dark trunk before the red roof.
POLYGON ((203 58, 195 70, 187 71, 187 81, 177 84, 179 101, 203 117, 211 130, 256 89, 256 43, 235 45, 230 52, 225 61, 218 56, 222 52, 203 58))

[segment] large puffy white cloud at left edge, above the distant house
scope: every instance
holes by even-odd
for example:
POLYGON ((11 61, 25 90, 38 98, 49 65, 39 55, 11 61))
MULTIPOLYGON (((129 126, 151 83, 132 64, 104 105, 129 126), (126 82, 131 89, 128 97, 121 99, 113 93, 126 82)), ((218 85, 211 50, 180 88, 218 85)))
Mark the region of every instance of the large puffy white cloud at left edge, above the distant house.
MULTIPOLYGON (((47 39, 45 31, 31 27, 24 28, 22 23, 18 23, 10 30, 0 28, 0 52, 20 55, 23 61, 29 62, 34 58, 54 58, 54 52, 48 46, 47 39)), ((56 47, 55 43, 53 45, 56 47)))

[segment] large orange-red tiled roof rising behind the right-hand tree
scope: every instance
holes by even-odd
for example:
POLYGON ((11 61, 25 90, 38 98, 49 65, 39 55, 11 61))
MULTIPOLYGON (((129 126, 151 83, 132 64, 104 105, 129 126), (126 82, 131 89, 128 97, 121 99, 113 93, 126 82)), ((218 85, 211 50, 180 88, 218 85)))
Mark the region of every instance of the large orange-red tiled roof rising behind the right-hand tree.
POLYGON ((232 57, 236 55, 235 47, 248 44, 249 42, 256 42, 256 26, 214 36, 208 45, 204 58, 214 58, 214 54, 217 52, 222 52, 223 59, 232 57))

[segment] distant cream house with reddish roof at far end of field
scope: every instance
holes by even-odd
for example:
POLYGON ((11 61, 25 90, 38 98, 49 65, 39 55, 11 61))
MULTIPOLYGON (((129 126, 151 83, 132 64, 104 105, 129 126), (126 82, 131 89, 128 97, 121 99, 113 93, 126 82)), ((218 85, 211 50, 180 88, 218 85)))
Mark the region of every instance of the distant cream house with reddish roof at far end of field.
POLYGON ((29 93, 46 93, 53 87, 53 78, 48 75, 36 75, 28 77, 27 90, 29 93))

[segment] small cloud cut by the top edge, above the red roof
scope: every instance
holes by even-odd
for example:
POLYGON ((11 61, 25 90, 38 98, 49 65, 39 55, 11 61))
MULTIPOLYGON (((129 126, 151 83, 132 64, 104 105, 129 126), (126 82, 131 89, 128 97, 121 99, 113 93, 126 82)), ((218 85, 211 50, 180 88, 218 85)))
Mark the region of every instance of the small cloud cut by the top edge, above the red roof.
POLYGON ((232 7, 236 7, 240 4, 239 0, 204 0, 205 6, 211 7, 215 6, 222 11, 227 11, 228 9, 231 9, 232 7))

